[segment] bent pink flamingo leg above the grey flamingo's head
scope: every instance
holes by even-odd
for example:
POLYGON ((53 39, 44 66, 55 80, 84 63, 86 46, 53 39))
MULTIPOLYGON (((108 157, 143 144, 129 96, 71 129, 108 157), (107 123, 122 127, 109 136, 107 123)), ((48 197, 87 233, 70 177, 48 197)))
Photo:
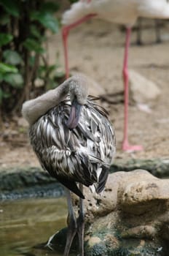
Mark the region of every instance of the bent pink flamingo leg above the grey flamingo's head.
POLYGON ((64 26, 62 29, 62 37, 63 37, 63 48, 64 48, 64 59, 65 59, 65 70, 66 70, 66 79, 69 77, 69 69, 68 69, 68 32, 79 24, 83 23, 86 20, 90 20, 90 18, 95 17, 96 14, 89 14, 84 16, 83 18, 76 20, 76 22, 71 23, 71 25, 64 26))

